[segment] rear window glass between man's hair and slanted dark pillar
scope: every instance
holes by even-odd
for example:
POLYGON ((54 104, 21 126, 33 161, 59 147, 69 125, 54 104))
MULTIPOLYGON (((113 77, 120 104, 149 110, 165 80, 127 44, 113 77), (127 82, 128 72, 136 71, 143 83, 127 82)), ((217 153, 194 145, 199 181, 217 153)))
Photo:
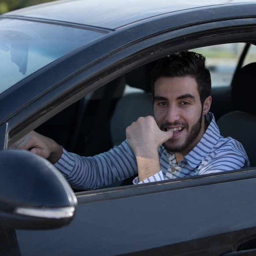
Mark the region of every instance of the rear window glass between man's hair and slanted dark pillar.
POLYGON ((192 51, 205 55, 212 78, 212 87, 230 86, 245 43, 219 44, 192 51))

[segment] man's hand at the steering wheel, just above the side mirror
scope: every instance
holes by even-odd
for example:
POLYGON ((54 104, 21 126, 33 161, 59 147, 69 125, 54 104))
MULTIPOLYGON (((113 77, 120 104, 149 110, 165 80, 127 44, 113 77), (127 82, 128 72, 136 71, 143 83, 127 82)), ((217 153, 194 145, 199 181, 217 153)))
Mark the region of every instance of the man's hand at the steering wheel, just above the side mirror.
POLYGON ((34 131, 18 140, 11 148, 30 150, 31 153, 48 159, 52 164, 62 155, 62 147, 58 143, 34 131))

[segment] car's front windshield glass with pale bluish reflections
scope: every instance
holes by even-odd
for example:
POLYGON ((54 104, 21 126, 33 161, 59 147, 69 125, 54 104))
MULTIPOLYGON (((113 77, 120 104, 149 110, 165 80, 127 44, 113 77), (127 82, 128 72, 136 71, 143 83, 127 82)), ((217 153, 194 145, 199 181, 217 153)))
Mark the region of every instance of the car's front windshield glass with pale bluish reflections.
POLYGON ((0 93, 104 33, 26 20, 0 20, 0 93))

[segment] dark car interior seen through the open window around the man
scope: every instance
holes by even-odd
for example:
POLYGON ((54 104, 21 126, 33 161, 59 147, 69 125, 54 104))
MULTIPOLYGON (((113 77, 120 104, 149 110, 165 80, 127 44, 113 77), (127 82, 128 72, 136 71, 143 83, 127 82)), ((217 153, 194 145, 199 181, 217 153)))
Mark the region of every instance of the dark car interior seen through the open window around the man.
MULTIPOLYGON (((221 135, 239 140, 249 155, 250 165, 255 166, 256 105, 252 95, 256 92, 256 46, 236 43, 191 50, 202 53, 207 59, 212 76, 210 111, 214 113, 221 135), (230 54, 227 49, 233 52, 230 54), (216 77, 218 82, 215 82, 216 77)), ((125 128, 132 121, 153 115, 150 70, 155 62, 133 69, 86 95, 36 131, 83 156, 93 156, 119 145, 125 139, 125 128)), ((132 179, 117 186, 132 184, 132 179)))

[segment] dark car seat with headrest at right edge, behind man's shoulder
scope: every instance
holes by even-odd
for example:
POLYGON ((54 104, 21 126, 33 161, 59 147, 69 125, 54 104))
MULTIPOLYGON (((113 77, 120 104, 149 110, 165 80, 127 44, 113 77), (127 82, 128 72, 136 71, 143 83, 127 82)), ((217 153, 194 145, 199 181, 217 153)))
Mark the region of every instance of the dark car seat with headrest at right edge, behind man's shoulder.
POLYGON ((219 118, 220 134, 242 143, 248 154, 250 166, 256 166, 256 63, 242 67, 232 82, 232 111, 219 118))

